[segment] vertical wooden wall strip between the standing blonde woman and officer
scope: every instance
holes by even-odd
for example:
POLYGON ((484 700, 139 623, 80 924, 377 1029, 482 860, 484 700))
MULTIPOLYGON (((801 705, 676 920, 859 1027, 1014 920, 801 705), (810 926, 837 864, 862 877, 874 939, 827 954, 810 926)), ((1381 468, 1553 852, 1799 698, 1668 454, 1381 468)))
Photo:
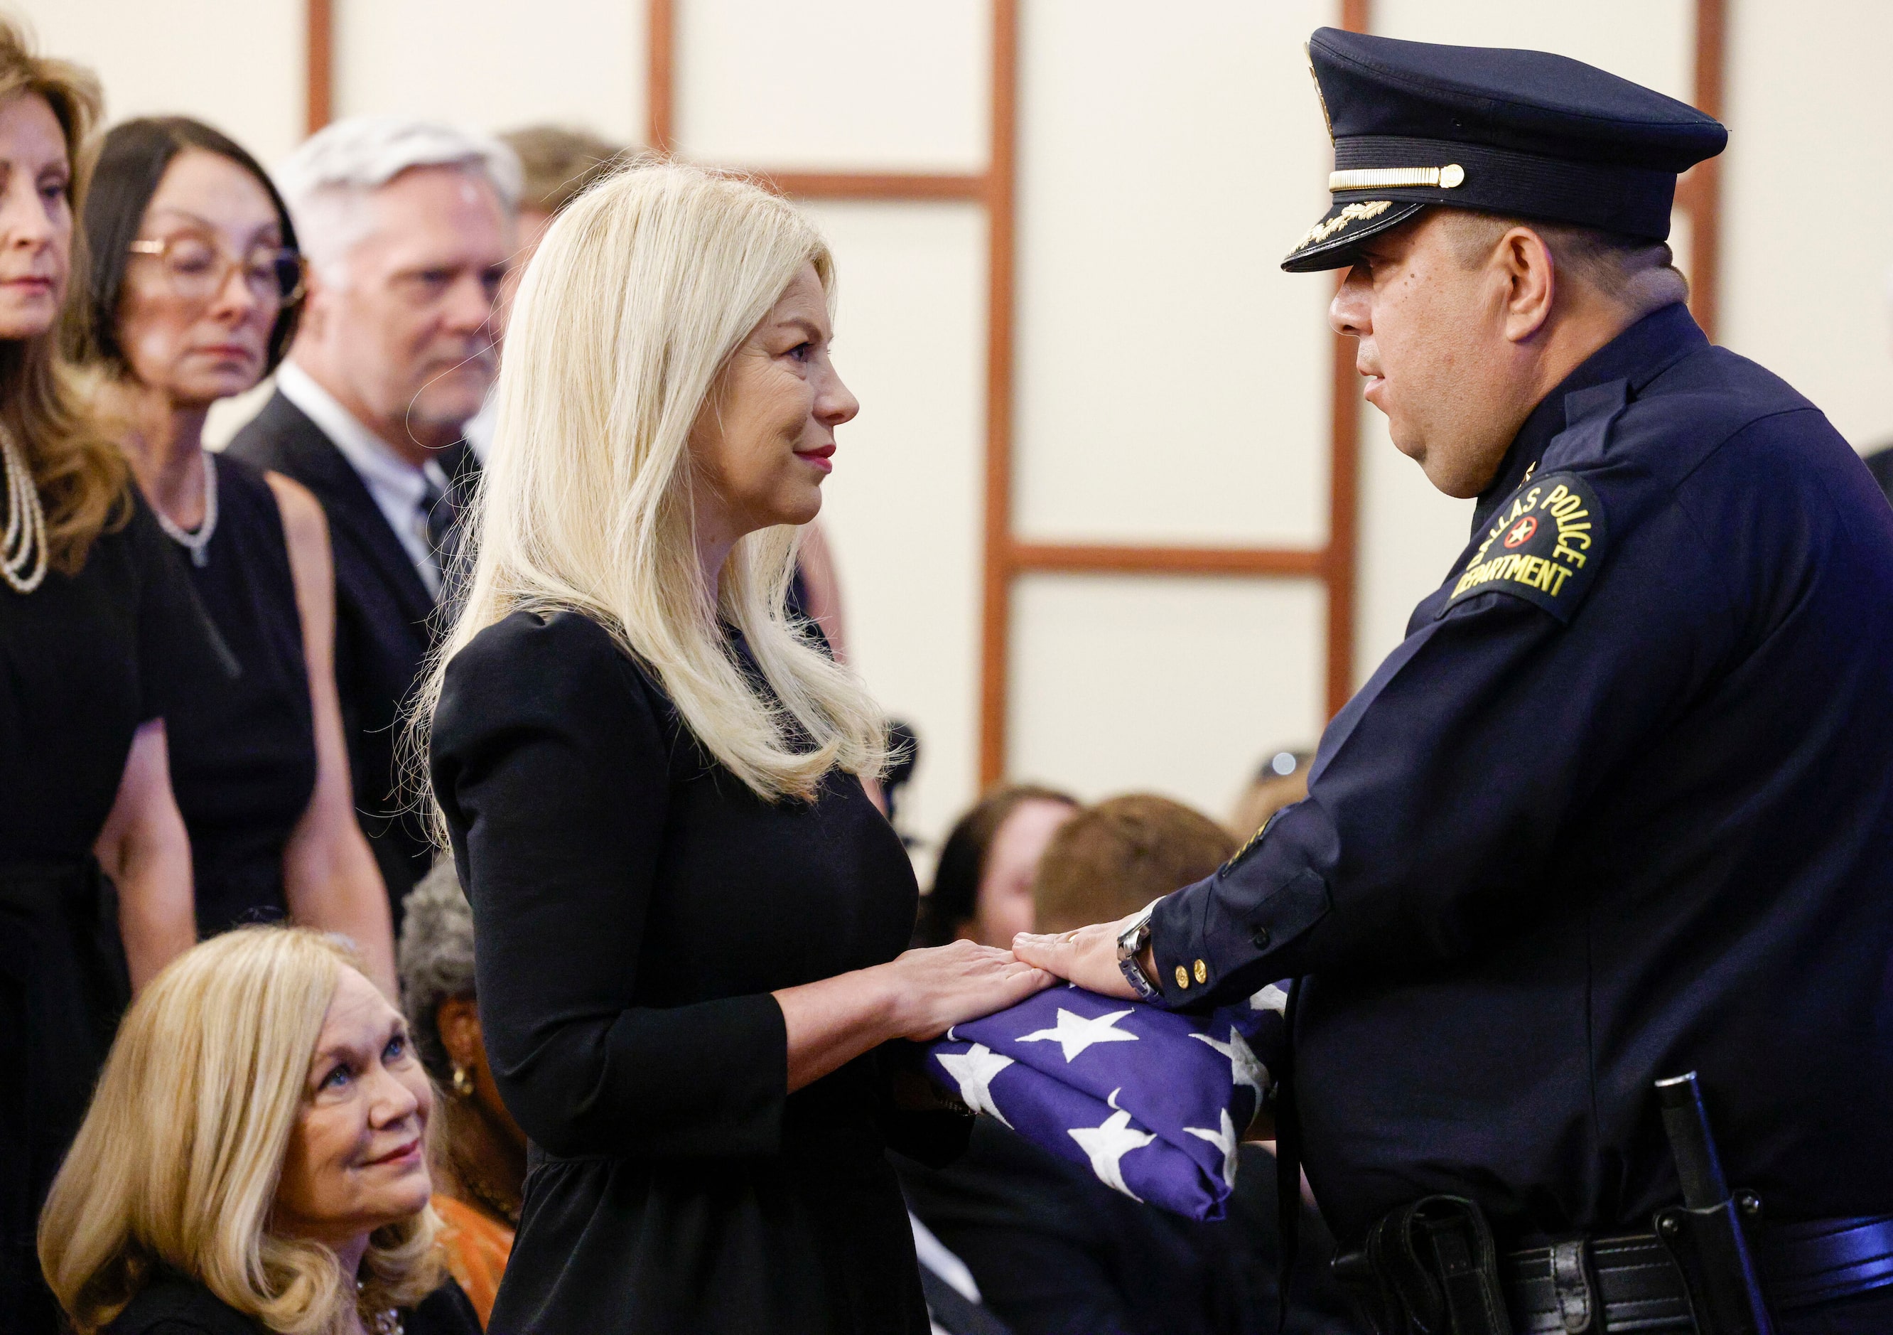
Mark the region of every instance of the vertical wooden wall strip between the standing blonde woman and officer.
POLYGON ((986 159, 986 506, 979 646, 979 784, 1005 776, 1013 636, 1013 276, 1018 167, 1018 0, 992 0, 986 159))

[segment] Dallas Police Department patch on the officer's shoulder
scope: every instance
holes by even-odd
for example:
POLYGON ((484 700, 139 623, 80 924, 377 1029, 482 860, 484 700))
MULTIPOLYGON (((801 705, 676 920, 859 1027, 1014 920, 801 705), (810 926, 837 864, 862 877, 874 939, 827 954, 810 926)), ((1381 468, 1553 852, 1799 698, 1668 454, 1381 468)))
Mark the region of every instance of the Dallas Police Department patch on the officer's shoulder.
POLYGON ((1499 506, 1452 596, 1446 615, 1480 593, 1509 593, 1569 621, 1603 561, 1603 506, 1577 473, 1528 479, 1499 506))

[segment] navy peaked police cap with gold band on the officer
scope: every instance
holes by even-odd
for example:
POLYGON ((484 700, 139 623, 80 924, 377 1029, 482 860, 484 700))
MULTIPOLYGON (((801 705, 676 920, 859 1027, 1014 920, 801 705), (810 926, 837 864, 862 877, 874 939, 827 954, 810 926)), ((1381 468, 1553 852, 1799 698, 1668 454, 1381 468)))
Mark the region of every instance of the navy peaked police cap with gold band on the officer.
POLYGON ((1666 240, 1677 172, 1728 142, 1692 106, 1547 51, 1318 28, 1308 64, 1335 140, 1333 206, 1289 273, 1350 265, 1427 205, 1666 240))

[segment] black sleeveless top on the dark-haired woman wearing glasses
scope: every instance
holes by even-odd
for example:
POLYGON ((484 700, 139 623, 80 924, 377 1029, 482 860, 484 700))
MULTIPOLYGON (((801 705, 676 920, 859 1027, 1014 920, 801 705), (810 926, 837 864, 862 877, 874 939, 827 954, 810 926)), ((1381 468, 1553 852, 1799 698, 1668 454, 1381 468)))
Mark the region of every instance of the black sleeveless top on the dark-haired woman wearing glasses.
POLYGON ((263 473, 229 454, 203 555, 184 564, 242 674, 193 695, 167 727, 197 930, 210 935, 286 917, 282 848, 316 788, 316 729, 282 511, 263 473))

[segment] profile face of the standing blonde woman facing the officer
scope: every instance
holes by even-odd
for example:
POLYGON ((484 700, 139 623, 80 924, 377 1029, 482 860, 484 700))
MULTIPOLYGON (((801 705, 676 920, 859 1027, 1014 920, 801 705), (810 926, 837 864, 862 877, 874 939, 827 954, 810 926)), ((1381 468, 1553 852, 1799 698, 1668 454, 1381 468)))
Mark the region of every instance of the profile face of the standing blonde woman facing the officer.
POLYGON ((831 337, 822 278, 803 265, 723 371, 691 437, 717 511, 700 521, 721 538, 806 525, 822 509, 835 428, 861 411, 829 362, 831 337))

